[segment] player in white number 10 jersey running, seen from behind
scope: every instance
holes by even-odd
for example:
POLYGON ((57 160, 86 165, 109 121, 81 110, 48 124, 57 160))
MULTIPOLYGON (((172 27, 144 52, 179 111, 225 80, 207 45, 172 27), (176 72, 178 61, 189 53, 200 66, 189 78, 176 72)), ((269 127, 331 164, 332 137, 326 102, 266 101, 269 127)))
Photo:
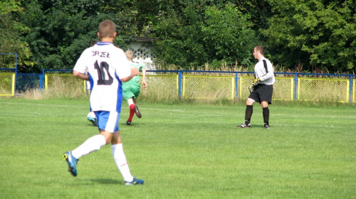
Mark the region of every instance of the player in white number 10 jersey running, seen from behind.
POLYGON ((90 107, 98 119, 100 134, 90 137, 73 151, 67 151, 63 158, 68 163, 68 171, 77 176, 76 164, 81 156, 111 143, 112 157, 125 185, 137 185, 144 181, 134 178, 130 173, 117 124, 122 104, 121 84, 138 75, 139 71, 130 68, 123 50, 112 44, 116 34, 115 23, 108 20, 101 22, 98 31, 101 41, 84 50, 75 64, 73 75, 81 80, 90 80, 92 85, 90 107))

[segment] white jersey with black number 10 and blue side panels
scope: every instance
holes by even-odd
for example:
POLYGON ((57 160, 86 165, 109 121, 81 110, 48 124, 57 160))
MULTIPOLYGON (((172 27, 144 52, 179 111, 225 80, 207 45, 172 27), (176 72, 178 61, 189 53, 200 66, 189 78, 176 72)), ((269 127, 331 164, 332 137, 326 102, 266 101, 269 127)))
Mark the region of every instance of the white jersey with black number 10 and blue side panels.
POLYGON ((90 78, 90 108, 93 111, 120 112, 122 82, 131 75, 124 51, 110 42, 98 42, 83 51, 73 70, 90 78))

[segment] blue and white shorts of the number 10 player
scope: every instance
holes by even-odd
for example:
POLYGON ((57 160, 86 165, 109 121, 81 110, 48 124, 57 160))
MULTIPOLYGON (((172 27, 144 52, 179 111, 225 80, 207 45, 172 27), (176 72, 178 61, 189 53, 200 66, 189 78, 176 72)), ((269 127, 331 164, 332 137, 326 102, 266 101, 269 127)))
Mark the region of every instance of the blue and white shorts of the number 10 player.
POLYGON ((98 128, 114 133, 119 130, 120 112, 98 111, 94 112, 98 120, 98 128))

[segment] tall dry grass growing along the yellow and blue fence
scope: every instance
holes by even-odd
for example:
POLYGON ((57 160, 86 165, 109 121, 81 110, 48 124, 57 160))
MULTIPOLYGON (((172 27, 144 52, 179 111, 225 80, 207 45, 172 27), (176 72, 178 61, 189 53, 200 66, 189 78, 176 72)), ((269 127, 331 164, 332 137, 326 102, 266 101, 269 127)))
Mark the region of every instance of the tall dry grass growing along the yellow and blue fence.
MULTIPOLYGON (((227 75, 231 75, 226 73, 227 75)), ((187 74, 184 74, 187 75, 187 74)), ((245 102, 246 97, 249 95, 247 87, 250 85, 248 78, 244 81, 239 82, 239 87, 246 87, 242 90, 240 95, 241 99, 231 99, 231 82, 219 80, 222 77, 187 77, 185 82, 185 96, 178 97, 177 91, 177 75, 154 75, 147 76, 148 87, 141 89, 141 94, 138 100, 144 102, 164 102, 164 103, 209 103, 209 104, 224 104, 224 103, 239 103, 245 102), (195 97, 195 98, 194 98, 195 97)), ((211 74, 209 74, 211 75, 211 74)), ((24 99, 88 99, 88 93, 85 93, 83 87, 83 80, 78 80, 77 78, 70 75, 64 77, 51 77, 51 83, 48 85, 46 90, 40 90, 38 87, 25 92, 17 92, 16 97, 22 97, 24 99)), ((234 78, 234 77, 233 77, 234 78)), ((229 79, 224 79, 228 80, 229 79)), ((290 81, 293 80, 281 80, 276 82, 275 93, 273 94, 273 99, 290 99, 293 95, 293 90, 290 90, 290 81), (283 82, 284 81, 284 82, 283 82)), ((303 85, 303 89, 300 91, 300 100, 313 100, 318 101, 321 104, 332 104, 338 103, 337 101, 345 101, 345 105, 352 105, 348 103, 346 99, 347 93, 346 89, 347 82, 337 82, 330 80, 308 80, 311 83, 303 85), (331 83, 333 84, 331 84, 331 83), (340 85, 340 84, 343 85, 340 85), (321 87, 322 89, 319 89, 321 87), (335 94, 337 93, 337 95, 335 94), (331 102, 331 103, 330 103, 331 102)), ((305 81, 304 81, 305 82, 305 81)), ((240 92, 240 91, 239 91, 240 92)), ((240 96, 239 95, 239 96, 240 96)), ((11 98, 11 97, 10 97, 11 98)), ((289 101, 288 103, 296 103, 295 101, 289 101)), ((355 103, 354 103, 355 104, 355 103)))

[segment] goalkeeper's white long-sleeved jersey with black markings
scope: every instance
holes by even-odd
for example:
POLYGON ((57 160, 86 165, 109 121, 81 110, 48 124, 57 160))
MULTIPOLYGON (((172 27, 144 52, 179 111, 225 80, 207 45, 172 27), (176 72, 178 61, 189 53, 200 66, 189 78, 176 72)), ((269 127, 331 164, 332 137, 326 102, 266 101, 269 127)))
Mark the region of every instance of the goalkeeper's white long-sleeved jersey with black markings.
POLYGON ((261 82, 258 84, 273 85, 276 78, 273 74, 273 66, 266 58, 261 58, 255 65, 255 77, 260 78, 261 82))

